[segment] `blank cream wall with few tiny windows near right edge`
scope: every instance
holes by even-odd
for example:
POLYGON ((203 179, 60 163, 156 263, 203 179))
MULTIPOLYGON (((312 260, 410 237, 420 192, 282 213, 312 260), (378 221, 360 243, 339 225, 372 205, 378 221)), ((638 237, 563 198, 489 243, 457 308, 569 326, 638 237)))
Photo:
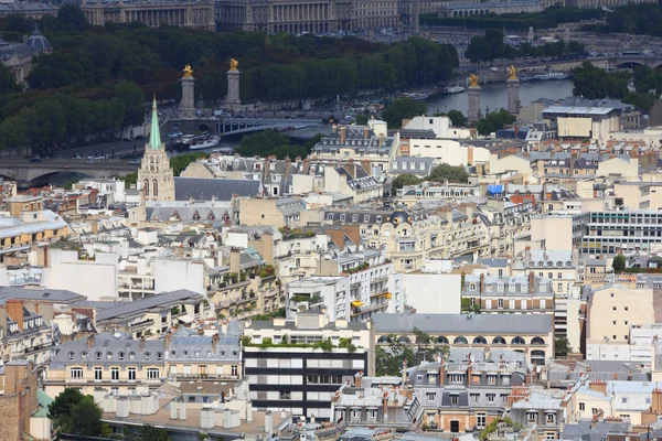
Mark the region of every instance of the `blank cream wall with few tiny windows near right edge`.
POLYGON ((604 343, 609 338, 609 342, 627 343, 630 327, 647 323, 655 323, 652 289, 607 287, 592 294, 587 342, 604 343))

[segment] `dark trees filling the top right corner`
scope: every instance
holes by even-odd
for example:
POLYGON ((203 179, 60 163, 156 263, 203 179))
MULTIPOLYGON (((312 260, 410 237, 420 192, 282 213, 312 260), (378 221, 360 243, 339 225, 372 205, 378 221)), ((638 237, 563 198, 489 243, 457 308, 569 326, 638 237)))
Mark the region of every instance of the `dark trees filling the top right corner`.
POLYGON ((627 3, 607 14, 606 24, 586 25, 584 30, 662 36, 662 6, 659 2, 627 3))

